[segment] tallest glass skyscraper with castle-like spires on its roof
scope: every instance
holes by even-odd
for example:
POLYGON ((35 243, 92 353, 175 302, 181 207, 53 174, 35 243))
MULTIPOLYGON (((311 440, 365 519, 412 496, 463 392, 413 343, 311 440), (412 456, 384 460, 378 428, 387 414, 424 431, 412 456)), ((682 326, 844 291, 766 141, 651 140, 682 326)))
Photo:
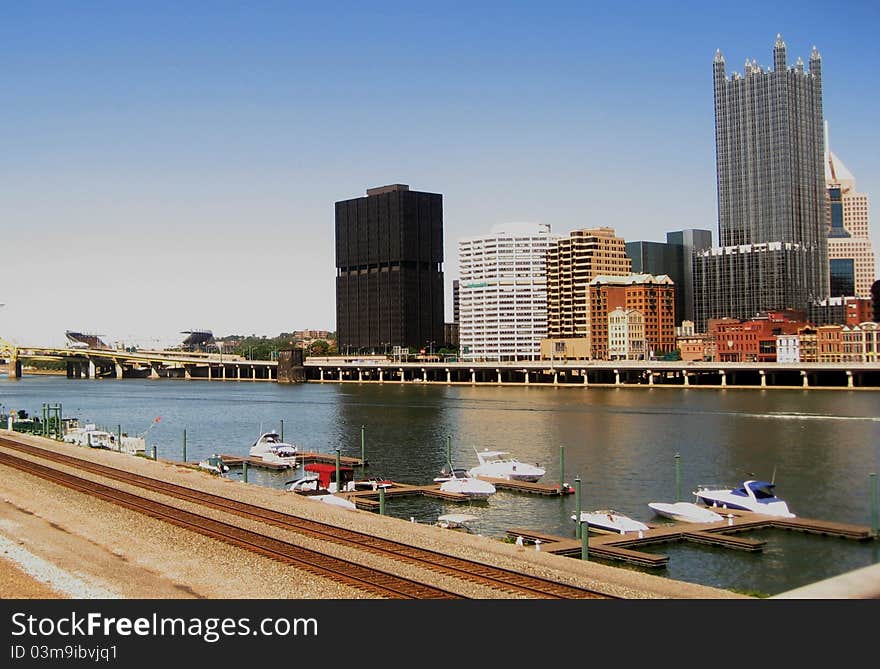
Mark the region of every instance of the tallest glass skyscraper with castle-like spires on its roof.
POLYGON ((713 63, 720 247, 694 255, 695 322, 806 311, 828 297, 822 59, 786 64, 777 35, 773 68, 747 60, 728 78, 713 63), (776 284, 771 290, 768 286, 776 284))

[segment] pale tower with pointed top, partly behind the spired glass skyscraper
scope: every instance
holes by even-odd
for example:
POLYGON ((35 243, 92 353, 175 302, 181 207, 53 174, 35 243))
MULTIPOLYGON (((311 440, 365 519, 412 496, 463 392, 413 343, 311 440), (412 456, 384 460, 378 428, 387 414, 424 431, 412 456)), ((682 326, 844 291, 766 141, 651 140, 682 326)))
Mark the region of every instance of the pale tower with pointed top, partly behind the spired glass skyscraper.
POLYGON ((828 193, 828 265, 831 297, 869 297, 877 278, 868 231, 868 196, 829 148, 825 124, 825 185, 828 193))

